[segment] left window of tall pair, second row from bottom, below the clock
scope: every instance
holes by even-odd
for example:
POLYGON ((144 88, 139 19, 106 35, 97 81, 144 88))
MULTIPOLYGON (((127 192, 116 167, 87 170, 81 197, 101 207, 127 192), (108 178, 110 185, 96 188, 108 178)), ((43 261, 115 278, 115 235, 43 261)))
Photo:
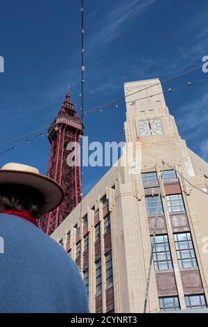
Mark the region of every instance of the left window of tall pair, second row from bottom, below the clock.
MULTIPOLYGON (((151 237, 151 243, 153 244, 153 237, 151 237)), ((153 259, 155 270, 173 269, 167 235, 155 236, 155 245, 153 246, 153 259)))

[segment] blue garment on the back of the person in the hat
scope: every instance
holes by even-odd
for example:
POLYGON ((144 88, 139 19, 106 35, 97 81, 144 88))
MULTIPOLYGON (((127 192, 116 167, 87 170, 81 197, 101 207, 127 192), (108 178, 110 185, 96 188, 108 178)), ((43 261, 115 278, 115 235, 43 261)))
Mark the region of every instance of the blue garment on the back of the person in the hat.
POLYGON ((0 239, 0 312, 89 312, 76 264, 51 237, 0 214, 0 239))

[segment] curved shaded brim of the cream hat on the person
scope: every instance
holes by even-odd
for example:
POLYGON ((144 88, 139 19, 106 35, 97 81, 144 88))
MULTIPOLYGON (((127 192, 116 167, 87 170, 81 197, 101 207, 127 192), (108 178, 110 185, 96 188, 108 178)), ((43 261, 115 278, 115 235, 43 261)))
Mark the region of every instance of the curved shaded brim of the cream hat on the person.
POLYGON ((0 170, 1 184, 21 184, 31 186, 40 191, 44 197, 42 214, 47 214, 57 208, 64 200, 64 191, 62 187, 41 174, 35 174, 17 170, 0 170))

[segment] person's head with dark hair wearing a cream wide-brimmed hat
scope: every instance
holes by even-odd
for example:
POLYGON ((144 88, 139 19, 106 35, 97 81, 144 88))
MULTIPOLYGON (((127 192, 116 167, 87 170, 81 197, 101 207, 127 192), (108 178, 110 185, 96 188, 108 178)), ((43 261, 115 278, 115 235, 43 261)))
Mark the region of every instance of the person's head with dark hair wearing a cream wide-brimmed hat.
POLYGON ((10 162, 0 169, 0 212, 26 210, 39 218, 57 208, 63 199, 62 187, 37 168, 10 162))

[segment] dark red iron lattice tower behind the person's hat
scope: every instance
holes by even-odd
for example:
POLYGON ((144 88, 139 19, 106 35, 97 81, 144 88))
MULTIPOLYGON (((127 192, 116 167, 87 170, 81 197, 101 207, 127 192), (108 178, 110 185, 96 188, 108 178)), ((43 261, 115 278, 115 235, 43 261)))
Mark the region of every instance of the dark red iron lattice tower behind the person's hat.
POLYGON ((73 160, 76 163, 80 161, 80 152, 76 145, 81 135, 83 135, 83 124, 67 93, 60 112, 49 127, 48 134, 51 151, 47 175, 64 189, 64 201, 58 209, 40 218, 40 228, 46 234, 51 234, 82 198, 80 165, 69 166, 67 163, 67 157, 71 152, 75 153, 73 160), (67 145, 71 142, 75 146, 72 150, 67 150, 67 145))

